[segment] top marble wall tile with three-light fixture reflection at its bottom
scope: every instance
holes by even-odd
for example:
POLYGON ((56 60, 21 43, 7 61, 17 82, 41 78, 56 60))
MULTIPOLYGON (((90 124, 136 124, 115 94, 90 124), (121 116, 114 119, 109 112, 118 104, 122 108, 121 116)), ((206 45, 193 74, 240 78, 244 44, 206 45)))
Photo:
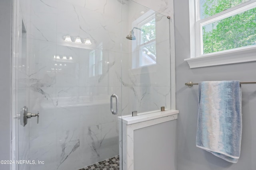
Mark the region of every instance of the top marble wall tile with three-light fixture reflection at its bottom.
POLYGON ((92 45, 84 45, 84 48, 96 49, 102 44, 101 49, 120 52, 121 16, 119 10, 112 10, 113 6, 120 8, 120 3, 111 1, 106 2, 104 6, 102 4, 97 6, 95 2, 86 1, 86 8, 84 8, 71 1, 60 0, 57 42, 63 43, 65 35, 80 36, 83 39, 90 38, 92 42, 92 45))

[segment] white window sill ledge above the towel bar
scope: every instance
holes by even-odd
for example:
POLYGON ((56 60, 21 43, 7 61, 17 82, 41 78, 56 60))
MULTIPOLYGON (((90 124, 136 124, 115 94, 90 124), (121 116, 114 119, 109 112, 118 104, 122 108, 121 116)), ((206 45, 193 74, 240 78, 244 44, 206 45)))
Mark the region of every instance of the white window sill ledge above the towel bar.
POLYGON ((184 59, 184 61, 188 62, 190 68, 252 62, 256 61, 256 47, 238 48, 235 51, 226 50, 184 59))

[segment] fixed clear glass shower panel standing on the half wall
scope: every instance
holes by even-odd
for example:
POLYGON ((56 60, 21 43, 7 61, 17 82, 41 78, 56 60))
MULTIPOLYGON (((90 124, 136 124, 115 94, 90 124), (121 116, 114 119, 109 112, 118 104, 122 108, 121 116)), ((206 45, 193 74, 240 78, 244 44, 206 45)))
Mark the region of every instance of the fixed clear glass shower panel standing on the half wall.
POLYGON ((133 1, 122 4, 122 109, 170 109, 169 19, 133 1), (130 35, 129 33, 132 33, 130 35), (127 36, 126 36, 127 35, 127 36), (133 40, 130 40, 133 37, 133 40))

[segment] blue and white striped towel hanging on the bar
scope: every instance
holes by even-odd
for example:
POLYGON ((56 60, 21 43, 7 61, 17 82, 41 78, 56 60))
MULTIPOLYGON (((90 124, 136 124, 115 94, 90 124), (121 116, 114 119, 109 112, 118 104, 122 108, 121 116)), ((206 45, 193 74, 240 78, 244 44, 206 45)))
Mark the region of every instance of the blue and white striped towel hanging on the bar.
POLYGON ((199 82, 196 146, 236 163, 242 138, 240 81, 199 82))

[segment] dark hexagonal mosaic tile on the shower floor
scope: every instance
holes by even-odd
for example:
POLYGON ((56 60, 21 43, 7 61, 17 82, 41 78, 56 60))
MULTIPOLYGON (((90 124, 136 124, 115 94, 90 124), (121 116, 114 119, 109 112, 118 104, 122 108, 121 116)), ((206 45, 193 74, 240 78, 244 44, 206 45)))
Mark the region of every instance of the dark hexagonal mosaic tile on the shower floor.
POLYGON ((119 155, 87 166, 80 170, 119 170, 119 155))

